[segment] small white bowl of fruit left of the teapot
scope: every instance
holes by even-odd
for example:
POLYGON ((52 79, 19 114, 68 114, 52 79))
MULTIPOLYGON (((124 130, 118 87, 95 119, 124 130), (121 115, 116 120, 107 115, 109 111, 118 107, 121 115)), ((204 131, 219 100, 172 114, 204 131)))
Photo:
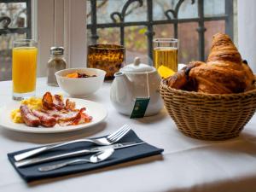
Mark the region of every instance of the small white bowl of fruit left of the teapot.
POLYGON ((55 73, 57 82, 61 90, 67 92, 69 96, 84 97, 90 96, 103 84, 106 72, 96 68, 68 68, 55 73), (69 73, 86 73, 96 75, 90 78, 67 78, 69 73))

